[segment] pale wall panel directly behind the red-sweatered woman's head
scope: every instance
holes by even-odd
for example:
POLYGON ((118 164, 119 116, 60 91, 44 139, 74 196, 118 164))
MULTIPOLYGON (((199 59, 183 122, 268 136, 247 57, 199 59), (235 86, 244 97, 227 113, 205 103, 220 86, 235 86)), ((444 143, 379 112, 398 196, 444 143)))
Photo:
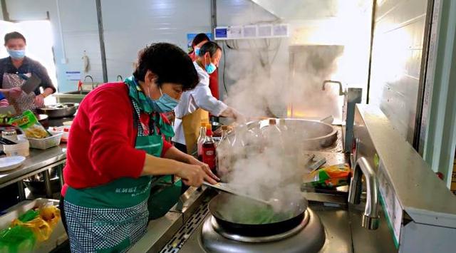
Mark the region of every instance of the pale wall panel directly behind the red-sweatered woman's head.
POLYGON ((209 0, 101 1, 108 81, 133 73, 138 51, 154 42, 187 51, 187 33, 210 31, 209 0))

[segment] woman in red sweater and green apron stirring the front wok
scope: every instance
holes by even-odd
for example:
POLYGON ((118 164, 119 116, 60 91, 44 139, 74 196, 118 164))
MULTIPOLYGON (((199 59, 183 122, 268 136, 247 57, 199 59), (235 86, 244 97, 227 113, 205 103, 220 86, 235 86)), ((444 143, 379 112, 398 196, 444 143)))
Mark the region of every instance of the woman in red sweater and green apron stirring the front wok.
POLYGON ((162 137, 169 129, 160 113, 197 83, 182 49, 156 43, 140 53, 132 77, 84 98, 71 125, 61 192, 71 252, 124 252, 137 242, 152 176, 177 175, 197 187, 216 183, 207 165, 162 137))

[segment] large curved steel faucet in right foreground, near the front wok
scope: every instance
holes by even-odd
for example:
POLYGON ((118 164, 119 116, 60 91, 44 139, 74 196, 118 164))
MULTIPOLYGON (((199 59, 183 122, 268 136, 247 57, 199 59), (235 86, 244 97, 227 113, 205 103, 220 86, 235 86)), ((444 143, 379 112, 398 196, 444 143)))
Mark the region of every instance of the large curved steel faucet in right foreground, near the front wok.
POLYGON ((361 177, 366 177, 367 185, 367 201, 364 210, 362 226, 366 229, 378 229, 378 182, 377 176, 369 165, 366 158, 359 158, 356 161, 353 178, 350 184, 350 192, 348 192, 348 202, 351 204, 359 204, 361 202, 361 177))

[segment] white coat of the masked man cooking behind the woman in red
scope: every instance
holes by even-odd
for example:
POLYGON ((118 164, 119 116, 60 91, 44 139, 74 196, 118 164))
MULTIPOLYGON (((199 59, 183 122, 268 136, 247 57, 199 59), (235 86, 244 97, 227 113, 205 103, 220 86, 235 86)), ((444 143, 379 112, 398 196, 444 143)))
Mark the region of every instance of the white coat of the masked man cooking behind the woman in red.
POLYGON ((210 114, 219 116, 224 110, 227 110, 228 105, 217 100, 212 96, 209 89, 209 74, 202 69, 196 61, 193 62, 198 73, 199 83, 191 91, 185 91, 180 96, 179 104, 174 109, 176 118, 174 121, 174 137, 172 141, 185 145, 184 128, 182 126, 182 118, 185 115, 195 112, 198 108, 207 110, 210 114))

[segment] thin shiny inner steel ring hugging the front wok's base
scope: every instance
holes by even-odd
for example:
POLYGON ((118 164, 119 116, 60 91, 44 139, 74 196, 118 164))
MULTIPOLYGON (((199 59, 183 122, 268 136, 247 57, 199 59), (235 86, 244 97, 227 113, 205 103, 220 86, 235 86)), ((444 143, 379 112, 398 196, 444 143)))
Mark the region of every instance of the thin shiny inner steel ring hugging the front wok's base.
POLYGON ((268 235, 268 236, 260 236, 260 237, 252 237, 252 236, 246 236, 246 235, 242 235, 242 234, 233 234, 231 232, 224 230, 223 227, 221 227, 217 223, 217 220, 212 215, 209 218, 209 220, 212 224, 212 227, 214 228, 214 231, 228 239, 233 239, 233 240, 240 241, 240 242, 272 242, 272 241, 276 241, 279 239, 284 239, 286 237, 291 237, 292 235, 299 233, 301 231, 301 229, 306 227, 306 224, 309 222, 309 213, 307 211, 304 212, 304 218, 301 221, 301 223, 299 223, 296 227, 289 229, 286 232, 282 232, 280 234, 272 234, 272 235, 268 235))

